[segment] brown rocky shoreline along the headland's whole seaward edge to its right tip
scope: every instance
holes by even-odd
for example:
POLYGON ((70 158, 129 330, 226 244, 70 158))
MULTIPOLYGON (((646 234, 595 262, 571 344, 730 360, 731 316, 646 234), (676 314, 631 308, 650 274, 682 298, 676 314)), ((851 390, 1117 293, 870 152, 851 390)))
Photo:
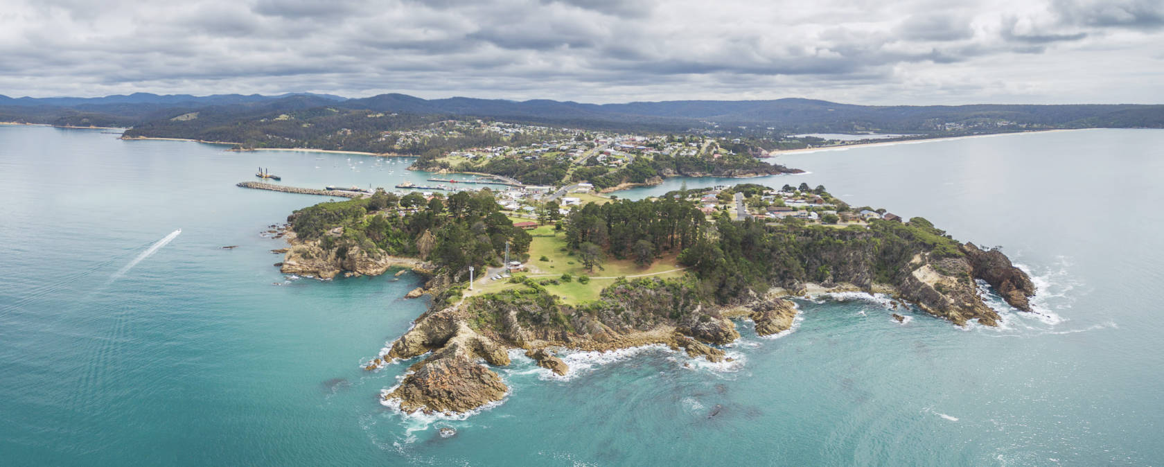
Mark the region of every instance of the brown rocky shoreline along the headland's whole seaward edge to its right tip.
POLYGON ((581 310, 561 304, 545 306, 539 305, 537 299, 525 300, 516 295, 496 299, 474 297, 449 306, 434 303, 430 311, 417 318, 409 332, 364 368, 377 370, 398 360, 428 355, 413 363, 400 384, 383 397, 393 404, 399 403, 400 410, 410 413, 457 415, 496 403, 509 394, 504 381, 489 366, 509 366, 510 349, 523 351, 538 366, 556 375, 570 372, 568 365, 554 354, 561 349, 606 352, 665 345, 693 359, 725 362, 731 358, 726 356, 723 346, 740 337, 733 320, 751 320, 760 337, 786 332, 793 327, 799 313, 796 305, 787 299, 790 297, 812 298, 833 292, 885 293, 893 297, 887 309, 893 311, 893 319, 900 324, 907 323, 907 319, 896 313, 899 303, 902 310, 909 303, 959 326, 970 320, 996 326, 1000 319, 998 312, 985 305, 973 282, 966 280, 978 277, 991 283, 1015 309, 1030 310, 1028 299, 1035 292, 1034 285, 1001 252, 981 250, 972 243, 961 248, 965 257, 929 260, 917 255, 910 263, 913 269, 903 271, 899 283, 892 285, 804 283, 772 288, 764 295, 752 293, 730 306, 681 305, 686 311, 675 319, 660 318, 663 310, 658 304, 681 302, 684 292, 674 286, 667 289, 658 280, 604 290, 603 300, 608 309, 603 310, 581 310), (532 326, 530 318, 523 318, 555 313, 568 325, 539 327, 532 326), (488 324, 482 324, 483 319, 488 324))

